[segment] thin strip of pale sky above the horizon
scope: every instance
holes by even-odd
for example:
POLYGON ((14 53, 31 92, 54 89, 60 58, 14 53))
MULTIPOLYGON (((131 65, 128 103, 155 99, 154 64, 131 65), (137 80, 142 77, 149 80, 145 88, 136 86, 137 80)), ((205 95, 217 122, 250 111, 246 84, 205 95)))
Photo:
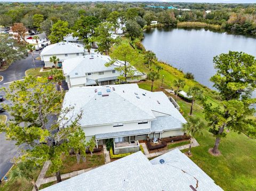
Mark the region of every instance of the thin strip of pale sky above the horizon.
MULTIPOLYGON (((0 0, 0 2, 97 2, 106 0, 0 0)), ((107 0, 119 2, 256 3, 256 0, 107 0)))

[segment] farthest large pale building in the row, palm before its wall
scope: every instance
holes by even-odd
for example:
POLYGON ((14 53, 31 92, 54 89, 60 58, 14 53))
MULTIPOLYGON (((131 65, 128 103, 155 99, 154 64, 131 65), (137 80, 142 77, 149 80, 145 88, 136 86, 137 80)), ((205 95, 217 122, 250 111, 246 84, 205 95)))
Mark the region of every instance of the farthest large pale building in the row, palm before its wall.
POLYGON ((84 47, 75 43, 60 42, 46 46, 41 52, 41 60, 44 61, 45 67, 52 67, 54 63, 50 62, 50 57, 56 56, 59 61, 59 67, 66 59, 84 55, 84 47))

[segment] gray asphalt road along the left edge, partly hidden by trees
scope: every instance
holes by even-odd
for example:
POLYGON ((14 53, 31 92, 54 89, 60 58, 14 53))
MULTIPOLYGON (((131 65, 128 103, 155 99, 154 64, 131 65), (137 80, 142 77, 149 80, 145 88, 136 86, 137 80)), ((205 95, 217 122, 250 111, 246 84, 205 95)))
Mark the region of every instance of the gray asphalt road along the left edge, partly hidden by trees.
MULTIPOLYGON (((34 57, 38 56, 38 52, 34 53, 34 57)), ((43 62, 35 60, 36 67, 43 67, 43 62)), ((15 80, 21 80, 25 76, 25 71, 34 68, 31 54, 26 59, 18 60, 10 65, 5 71, 0 71, 0 76, 4 77, 4 80, 0 82, 0 87, 9 87, 9 82, 15 80), (7 83, 7 84, 6 84, 7 83)), ((0 92, 0 95, 4 95, 0 92)), ((6 101, 4 101, 6 103, 6 101)), ((7 118, 10 119, 9 113, 4 112, 7 118)), ((12 167, 11 160, 17 155, 17 146, 12 140, 6 140, 5 134, 0 134, 0 179, 5 173, 12 167)))

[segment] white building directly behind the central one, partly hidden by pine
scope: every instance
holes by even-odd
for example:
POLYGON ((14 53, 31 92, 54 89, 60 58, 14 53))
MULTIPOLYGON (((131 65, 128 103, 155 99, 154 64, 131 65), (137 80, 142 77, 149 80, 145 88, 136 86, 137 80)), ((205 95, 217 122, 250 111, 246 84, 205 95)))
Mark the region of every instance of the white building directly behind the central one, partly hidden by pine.
MULTIPOLYGON (((92 54, 63 61, 63 74, 68 87, 114 84, 120 76, 120 72, 116 70, 119 65, 116 63, 106 67, 105 64, 109 61, 111 61, 109 56, 92 54)), ((127 81, 138 81, 143 75, 134 68, 134 78, 128 78, 127 81)))

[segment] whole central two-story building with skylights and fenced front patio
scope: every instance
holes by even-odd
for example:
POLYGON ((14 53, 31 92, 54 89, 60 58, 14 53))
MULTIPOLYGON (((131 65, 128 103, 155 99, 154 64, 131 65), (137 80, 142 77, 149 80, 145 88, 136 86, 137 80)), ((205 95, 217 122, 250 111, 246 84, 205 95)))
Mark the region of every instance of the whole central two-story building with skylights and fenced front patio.
POLYGON ((114 139, 115 153, 139 151, 138 140, 184 134, 182 123, 186 120, 169 98, 137 84, 70 88, 63 109, 70 106, 75 109, 67 119, 83 111, 79 124, 86 139, 95 136, 97 146, 114 139))

